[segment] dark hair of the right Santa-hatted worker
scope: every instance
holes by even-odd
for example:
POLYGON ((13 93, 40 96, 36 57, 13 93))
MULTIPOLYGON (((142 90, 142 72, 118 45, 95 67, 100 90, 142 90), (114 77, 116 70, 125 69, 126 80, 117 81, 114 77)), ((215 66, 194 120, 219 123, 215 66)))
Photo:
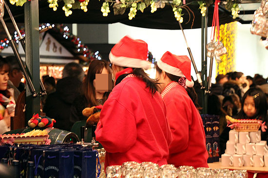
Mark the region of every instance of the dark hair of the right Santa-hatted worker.
MULTIPOLYGON (((161 73, 161 72, 162 72, 162 69, 160 69, 160 68, 158 67, 157 64, 155 65, 155 69, 156 69, 156 71, 157 71, 158 73, 161 73)), ((166 75, 168 76, 168 78, 169 78, 171 81, 179 81, 179 79, 181 78, 181 77, 179 77, 179 76, 175 76, 175 75, 170 74, 170 73, 167 73, 167 72, 166 72, 166 75)), ((201 108, 201 107, 199 106, 199 104, 198 104, 198 96, 197 96, 197 94, 196 94, 194 88, 189 88, 189 87, 188 87, 188 88, 186 89, 186 91, 187 91, 189 97, 191 98, 191 100, 192 100, 194 106, 195 106, 198 110, 201 110, 202 108, 201 108)))

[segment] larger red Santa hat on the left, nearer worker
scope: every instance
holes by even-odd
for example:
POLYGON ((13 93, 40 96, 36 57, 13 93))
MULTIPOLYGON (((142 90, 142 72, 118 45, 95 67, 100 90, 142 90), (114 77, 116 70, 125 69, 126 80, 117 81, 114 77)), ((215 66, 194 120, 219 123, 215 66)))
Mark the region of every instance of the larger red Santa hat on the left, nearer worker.
POLYGON ((145 41, 134 40, 128 36, 123 37, 112 48, 109 59, 112 64, 149 69, 151 63, 148 60, 148 45, 145 41))

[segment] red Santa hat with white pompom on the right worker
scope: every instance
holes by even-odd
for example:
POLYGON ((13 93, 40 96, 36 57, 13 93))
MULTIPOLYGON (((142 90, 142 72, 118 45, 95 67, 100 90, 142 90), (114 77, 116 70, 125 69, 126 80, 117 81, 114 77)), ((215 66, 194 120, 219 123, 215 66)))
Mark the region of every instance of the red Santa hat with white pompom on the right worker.
POLYGON ((162 58, 157 61, 157 66, 172 75, 185 77, 186 86, 193 86, 193 81, 191 80, 191 60, 188 56, 176 56, 167 51, 162 58))

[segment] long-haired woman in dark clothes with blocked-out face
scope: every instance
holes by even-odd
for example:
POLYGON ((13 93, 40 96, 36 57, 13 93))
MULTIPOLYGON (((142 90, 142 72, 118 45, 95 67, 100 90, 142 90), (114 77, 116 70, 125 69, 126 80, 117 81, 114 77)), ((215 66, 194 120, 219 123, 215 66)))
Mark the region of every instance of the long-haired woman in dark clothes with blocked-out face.
POLYGON ((88 66, 88 73, 83 81, 82 95, 78 96, 71 107, 70 121, 74 124, 87 117, 82 114, 83 109, 103 105, 111 92, 96 92, 96 74, 111 74, 108 62, 93 60, 88 66))

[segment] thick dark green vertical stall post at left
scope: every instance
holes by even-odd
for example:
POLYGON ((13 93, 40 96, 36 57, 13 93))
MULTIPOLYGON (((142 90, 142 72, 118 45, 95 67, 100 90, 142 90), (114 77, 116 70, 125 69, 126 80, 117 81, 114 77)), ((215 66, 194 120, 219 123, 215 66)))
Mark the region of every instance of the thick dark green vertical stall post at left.
MULTIPOLYGON (((39 12, 38 0, 27 0, 24 4, 25 22, 25 45, 26 45, 26 65, 32 76, 35 88, 40 90, 40 66, 39 66, 39 12)), ((26 88, 26 122, 33 113, 40 112, 40 98, 30 97, 26 88)))

